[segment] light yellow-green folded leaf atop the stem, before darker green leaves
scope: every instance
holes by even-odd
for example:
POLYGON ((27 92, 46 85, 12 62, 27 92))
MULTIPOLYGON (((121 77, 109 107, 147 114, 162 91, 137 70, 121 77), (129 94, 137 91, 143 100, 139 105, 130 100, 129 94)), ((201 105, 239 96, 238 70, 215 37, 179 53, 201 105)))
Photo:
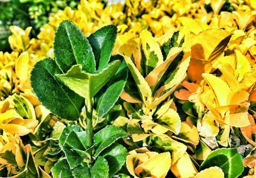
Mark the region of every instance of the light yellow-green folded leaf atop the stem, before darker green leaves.
POLYGON ((65 85, 80 96, 91 100, 95 94, 115 75, 120 61, 109 63, 106 68, 95 71, 95 73, 86 73, 82 71, 80 64, 72 66, 66 74, 56 75, 65 85))

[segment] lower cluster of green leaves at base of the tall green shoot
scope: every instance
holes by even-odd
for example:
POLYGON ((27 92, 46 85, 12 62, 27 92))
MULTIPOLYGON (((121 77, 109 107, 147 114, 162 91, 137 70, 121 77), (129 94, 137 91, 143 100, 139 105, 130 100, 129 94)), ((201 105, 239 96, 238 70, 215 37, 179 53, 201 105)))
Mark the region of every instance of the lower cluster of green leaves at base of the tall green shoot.
POLYGON ((93 146, 89 147, 86 131, 80 126, 67 126, 59 139, 65 158, 52 168, 53 177, 113 177, 127 156, 125 147, 115 141, 126 135, 121 128, 109 125, 95 133, 93 146))

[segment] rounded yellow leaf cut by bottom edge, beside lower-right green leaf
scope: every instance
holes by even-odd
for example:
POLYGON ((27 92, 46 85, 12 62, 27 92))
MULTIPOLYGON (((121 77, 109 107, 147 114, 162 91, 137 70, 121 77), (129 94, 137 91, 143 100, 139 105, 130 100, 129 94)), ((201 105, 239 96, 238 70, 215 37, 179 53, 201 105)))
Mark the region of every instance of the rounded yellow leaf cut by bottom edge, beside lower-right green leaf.
POLYGON ((195 178, 224 178, 224 173, 219 167, 209 167, 201 170, 196 174, 195 178))

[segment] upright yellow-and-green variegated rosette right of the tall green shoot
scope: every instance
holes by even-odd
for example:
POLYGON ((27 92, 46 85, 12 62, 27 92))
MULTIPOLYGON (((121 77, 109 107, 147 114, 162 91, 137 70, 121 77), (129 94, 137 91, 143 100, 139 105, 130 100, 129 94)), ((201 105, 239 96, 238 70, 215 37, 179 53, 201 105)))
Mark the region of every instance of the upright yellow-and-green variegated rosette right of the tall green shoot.
POLYGON ((186 77, 189 65, 188 36, 185 29, 169 31, 161 38, 153 38, 142 31, 138 44, 129 41, 119 48, 131 72, 121 98, 131 118, 127 131, 134 141, 151 133, 180 131, 180 117, 170 95, 186 77))

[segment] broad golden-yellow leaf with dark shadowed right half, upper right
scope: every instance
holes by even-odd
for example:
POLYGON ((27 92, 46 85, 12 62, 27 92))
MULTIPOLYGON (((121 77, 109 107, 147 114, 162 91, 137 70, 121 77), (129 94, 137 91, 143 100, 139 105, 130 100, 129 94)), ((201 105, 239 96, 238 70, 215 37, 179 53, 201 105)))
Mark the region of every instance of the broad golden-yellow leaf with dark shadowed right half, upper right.
POLYGON ((214 61, 227 47, 230 37, 231 34, 222 29, 202 31, 192 38, 191 58, 214 61))

